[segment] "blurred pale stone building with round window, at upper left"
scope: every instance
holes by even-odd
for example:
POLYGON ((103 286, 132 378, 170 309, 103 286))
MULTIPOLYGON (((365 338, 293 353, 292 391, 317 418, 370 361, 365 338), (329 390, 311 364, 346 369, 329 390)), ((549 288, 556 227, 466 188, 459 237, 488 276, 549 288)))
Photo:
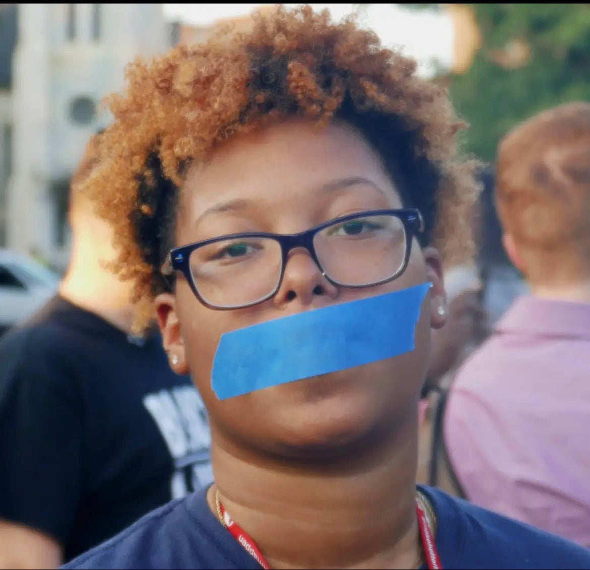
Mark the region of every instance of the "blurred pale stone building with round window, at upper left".
POLYGON ((0 38, 0 245, 64 269, 70 177, 109 121, 100 101, 171 28, 162 4, 0 4, 0 38))

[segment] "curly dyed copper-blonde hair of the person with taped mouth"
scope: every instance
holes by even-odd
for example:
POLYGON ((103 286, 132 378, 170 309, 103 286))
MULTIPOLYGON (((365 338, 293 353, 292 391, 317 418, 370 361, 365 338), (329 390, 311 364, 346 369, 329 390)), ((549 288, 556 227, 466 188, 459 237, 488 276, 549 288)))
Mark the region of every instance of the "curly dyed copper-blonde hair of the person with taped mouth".
POLYGON ((113 271, 135 284, 136 328, 148 324, 155 296, 173 286, 160 267, 173 246, 186 167, 282 117, 355 126, 404 204, 421 210, 422 245, 434 242, 450 263, 468 258, 478 163, 460 156, 455 135, 465 124, 446 90, 416 69, 353 17, 332 22, 309 6, 258 12, 247 33, 220 28, 204 44, 130 64, 124 93, 107 98, 114 121, 101 135, 106 158, 86 192, 114 228, 113 271))

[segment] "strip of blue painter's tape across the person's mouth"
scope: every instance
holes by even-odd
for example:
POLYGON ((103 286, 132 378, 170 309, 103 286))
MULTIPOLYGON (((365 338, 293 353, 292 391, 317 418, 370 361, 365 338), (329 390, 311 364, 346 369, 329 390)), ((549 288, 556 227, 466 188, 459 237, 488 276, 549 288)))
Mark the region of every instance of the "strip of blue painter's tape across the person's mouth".
POLYGON ((273 319, 221 336, 211 371, 219 400, 414 350, 430 284, 273 319))

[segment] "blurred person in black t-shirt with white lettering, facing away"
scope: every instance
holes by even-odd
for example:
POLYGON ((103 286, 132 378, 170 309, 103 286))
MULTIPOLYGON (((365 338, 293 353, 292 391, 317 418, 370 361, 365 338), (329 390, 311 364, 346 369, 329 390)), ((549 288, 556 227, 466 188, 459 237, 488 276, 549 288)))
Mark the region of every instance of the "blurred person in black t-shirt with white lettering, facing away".
POLYGON ((130 334, 131 288, 106 269, 112 231, 71 183, 59 293, 0 341, 0 568, 57 568, 212 479, 202 400, 159 333, 130 334))

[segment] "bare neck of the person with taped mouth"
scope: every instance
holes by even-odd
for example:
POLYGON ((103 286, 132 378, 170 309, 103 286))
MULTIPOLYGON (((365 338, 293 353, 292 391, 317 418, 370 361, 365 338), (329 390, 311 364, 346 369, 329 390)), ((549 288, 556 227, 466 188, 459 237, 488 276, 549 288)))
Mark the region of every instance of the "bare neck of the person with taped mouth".
POLYGON ((414 420, 394 440, 322 466, 238 451, 212 426, 209 507, 217 513, 217 491, 271 568, 417 568, 414 420))

